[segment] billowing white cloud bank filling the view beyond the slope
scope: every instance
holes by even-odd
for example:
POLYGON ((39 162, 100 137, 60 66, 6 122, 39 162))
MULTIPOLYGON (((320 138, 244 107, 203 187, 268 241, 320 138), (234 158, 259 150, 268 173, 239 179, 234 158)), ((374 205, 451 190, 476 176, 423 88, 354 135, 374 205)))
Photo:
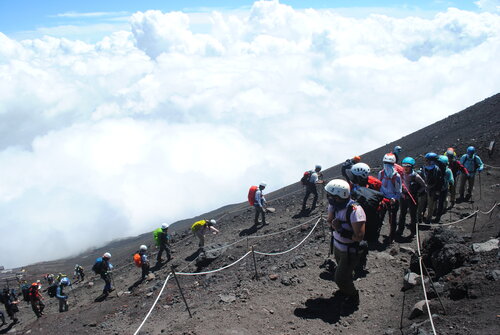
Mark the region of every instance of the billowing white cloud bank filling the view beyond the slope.
POLYGON ((0 33, 0 264, 243 201, 500 87, 488 12, 358 19, 258 1, 198 14, 203 33, 190 17, 138 12, 94 44, 0 33), (29 247, 7 258, 20 236, 29 247))

